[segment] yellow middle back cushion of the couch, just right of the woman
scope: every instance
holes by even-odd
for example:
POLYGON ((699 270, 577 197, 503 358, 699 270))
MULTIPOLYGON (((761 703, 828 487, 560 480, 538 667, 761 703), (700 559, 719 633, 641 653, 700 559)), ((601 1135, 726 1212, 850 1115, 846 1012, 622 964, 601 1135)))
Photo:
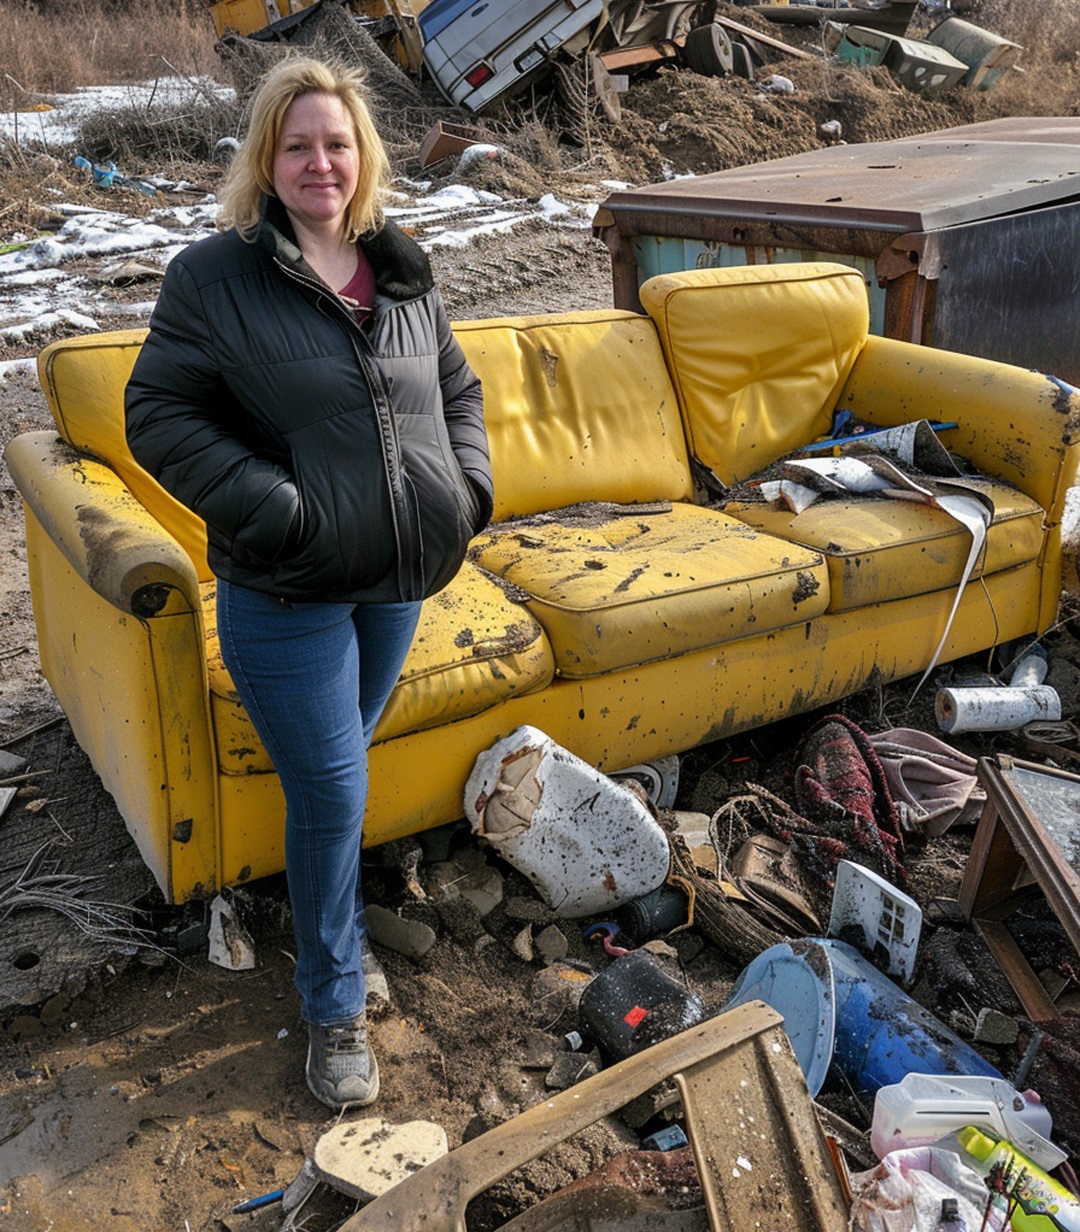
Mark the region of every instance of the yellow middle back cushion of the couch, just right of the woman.
POLYGON ((692 493, 656 329, 617 309, 457 322, 484 386, 495 519, 692 493))

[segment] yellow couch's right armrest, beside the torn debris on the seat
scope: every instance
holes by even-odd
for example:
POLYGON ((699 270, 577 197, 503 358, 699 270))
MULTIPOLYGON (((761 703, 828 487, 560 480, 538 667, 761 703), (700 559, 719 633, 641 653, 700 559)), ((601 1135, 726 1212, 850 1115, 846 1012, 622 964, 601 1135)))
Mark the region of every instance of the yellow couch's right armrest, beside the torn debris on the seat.
POLYGON ((1055 378, 994 360, 872 335, 836 402, 883 428, 956 420, 954 453, 1004 479, 1062 520, 1076 482, 1080 393, 1055 378))

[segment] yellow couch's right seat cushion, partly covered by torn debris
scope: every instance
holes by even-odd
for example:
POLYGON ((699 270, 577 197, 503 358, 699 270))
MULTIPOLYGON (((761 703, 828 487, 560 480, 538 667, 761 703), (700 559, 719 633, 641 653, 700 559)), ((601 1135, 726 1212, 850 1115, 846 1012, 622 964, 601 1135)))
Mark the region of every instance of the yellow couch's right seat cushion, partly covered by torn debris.
MULTIPOLYGON (((986 480, 994 521, 973 578, 1028 564, 1043 545, 1043 511, 1022 492, 986 480)), ((765 504, 729 503, 748 526, 823 552, 829 561, 829 610, 949 590, 959 585, 972 536, 930 505, 882 496, 816 500, 800 514, 765 504)))

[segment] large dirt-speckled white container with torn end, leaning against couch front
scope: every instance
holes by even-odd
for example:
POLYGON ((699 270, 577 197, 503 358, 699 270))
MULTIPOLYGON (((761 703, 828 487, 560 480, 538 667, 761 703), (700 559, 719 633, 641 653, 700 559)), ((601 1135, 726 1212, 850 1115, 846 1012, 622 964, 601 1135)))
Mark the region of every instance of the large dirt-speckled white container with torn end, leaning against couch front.
POLYGON ((534 727, 477 758, 464 804, 562 917, 606 913, 667 876, 667 837, 640 798, 534 727))

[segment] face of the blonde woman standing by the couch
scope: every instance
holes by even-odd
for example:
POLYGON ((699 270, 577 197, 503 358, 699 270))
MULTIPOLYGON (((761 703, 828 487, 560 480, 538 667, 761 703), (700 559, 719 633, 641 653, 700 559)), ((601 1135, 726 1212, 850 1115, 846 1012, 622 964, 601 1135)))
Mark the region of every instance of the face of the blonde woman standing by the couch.
POLYGON ((342 228, 358 166, 356 132, 341 100, 321 91, 293 99, 273 155, 273 191, 293 224, 309 230, 342 228))

